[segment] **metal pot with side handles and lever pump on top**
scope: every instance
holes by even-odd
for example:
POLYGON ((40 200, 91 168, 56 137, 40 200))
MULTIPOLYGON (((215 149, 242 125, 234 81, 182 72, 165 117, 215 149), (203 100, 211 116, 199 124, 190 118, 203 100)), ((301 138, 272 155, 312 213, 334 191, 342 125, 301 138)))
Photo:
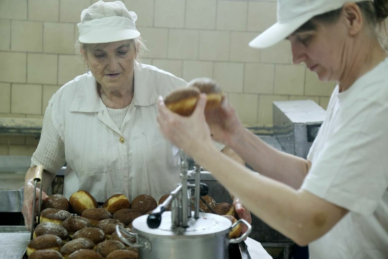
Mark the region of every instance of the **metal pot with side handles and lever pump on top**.
MULTIPOLYGON (((181 161, 182 183, 171 191, 170 196, 154 209, 150 215, 143 215, 132 222, 135 233, 128 233, 116 226, 120 239, 131 247, 139 249, 140 259, 250 259, 248 249, 242 243, 251 232, 251 225, 239 219, 232 225, 226 217, 199 212, 200 196, 208 194, 205 184, 200 184, 201 167, 188 170, 186 159, 181 161), (195 183, 188 183, 188 176, 195 175, 195 183), (194 211, 191 211, 191 189, 195 189, 194 211), (171 204, 171 211, 165 208, 171 204), (248 227, 239 238, 229 239, 229 231, 237 224, 248 227), (136 243, 128 238, 135 237, 136 243), (229 244, 237 244, 239 256, 229 257, 229 244)), ((231 249, 236 253, 236 249, 231 249)))

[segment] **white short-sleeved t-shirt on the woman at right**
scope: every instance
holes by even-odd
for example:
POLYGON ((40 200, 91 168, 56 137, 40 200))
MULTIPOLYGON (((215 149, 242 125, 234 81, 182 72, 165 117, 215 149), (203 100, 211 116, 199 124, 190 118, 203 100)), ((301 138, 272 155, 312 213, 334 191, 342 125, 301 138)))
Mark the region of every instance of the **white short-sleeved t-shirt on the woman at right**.
POLYGON ((388 258, 388 58, 330 98, 302 189, 349 210, 310 259, 388 258))

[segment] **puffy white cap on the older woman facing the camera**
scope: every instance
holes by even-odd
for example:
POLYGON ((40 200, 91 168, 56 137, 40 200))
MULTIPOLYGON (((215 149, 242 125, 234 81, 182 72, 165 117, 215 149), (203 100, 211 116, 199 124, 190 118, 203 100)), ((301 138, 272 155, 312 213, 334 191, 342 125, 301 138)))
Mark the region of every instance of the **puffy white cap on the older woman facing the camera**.
POLYGON ((78 40, 106 43, 137 38, 140 32, 135 27, 136 19, 135 12, 128 11, 124 3, 100 0, 81 12, 78 40))

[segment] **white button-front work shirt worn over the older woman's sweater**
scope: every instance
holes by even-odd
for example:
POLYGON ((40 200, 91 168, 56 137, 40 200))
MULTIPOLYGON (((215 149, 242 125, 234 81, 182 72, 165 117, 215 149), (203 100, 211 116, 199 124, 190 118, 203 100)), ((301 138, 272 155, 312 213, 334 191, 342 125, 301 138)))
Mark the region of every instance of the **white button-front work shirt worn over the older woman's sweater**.
POLYGON ((156 200, 180 182, 178 148, 161 135, 158 96, 187 83, 154 66, 136 63, 134 96, 121 129, 97 93, 92 74, 66 83, 52 97, 52 122, 64 142, 63 194, 89 191, 98 202, 122 193, 156 200))

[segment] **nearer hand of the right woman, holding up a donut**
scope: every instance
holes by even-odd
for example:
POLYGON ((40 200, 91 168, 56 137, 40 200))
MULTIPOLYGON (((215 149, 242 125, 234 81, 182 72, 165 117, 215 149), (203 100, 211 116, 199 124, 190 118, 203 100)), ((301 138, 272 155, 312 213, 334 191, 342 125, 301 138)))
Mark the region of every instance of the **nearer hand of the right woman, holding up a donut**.
POLYGON ((195 158, 204 145, 211 145, 209 126, 206 123, 204 109, 206 94, 201 94, 191 116, 184 117, 170 111, 162 97, 158 99, 158 123, 162 134, 175 146, 195 158))

